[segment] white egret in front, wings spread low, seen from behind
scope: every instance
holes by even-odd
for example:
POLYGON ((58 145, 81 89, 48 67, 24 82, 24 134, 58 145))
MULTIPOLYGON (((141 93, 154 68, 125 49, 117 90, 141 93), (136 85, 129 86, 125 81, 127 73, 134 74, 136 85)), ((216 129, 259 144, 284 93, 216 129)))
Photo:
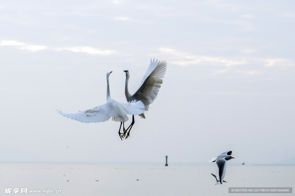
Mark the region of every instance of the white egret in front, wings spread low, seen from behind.
POLYGON ((64 113, 62 111, 58 111, 60 115, 64 117, 71 118, 73 120, 80 121, 82 123, 100 123, 105 122, 112 118, 115 122, 121 122, 119 128, 119 136, 122 140, 123 134, 126 132, 124 128, 124 122, 126 122, 129 118, 129 115, 140 115, 144 112, 145 105, 141 102, 134 103, 121 103, 111 98, 110 88, 109 88, 109 75, 112 73, 106 73, 106 103, 103 105, 96 106, 89 110, 79 111, 76 113, 64 113), (123 131, 121 133, 121 126, 123 122, 123 131))

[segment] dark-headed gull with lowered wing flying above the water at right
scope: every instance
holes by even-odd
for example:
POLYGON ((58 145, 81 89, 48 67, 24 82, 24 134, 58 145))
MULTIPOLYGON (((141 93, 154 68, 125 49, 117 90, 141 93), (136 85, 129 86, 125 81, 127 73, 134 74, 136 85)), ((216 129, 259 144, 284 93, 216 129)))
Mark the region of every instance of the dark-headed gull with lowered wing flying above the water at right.
POLYGON ((227 151, 227 152, 224 152, 224 153, 218 155, 217 158, 212 158, 209 161, 209 163, 216 161, 216 164, 219 169, 219 182, 220 182, 220 184, 222 184, 222 182, 223 182, 227 160, 234 159, 234 157, 232 157, 231 155, 232 155, 232 151, 227 151))

